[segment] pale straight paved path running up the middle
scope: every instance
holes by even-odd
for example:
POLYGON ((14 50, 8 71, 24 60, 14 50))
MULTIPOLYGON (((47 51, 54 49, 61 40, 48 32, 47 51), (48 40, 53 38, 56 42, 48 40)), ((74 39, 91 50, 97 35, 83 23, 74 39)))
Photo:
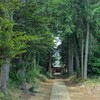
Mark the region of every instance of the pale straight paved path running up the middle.
POLYGON ((50 100, 71 100, 63 79, 55 79, 50 100))

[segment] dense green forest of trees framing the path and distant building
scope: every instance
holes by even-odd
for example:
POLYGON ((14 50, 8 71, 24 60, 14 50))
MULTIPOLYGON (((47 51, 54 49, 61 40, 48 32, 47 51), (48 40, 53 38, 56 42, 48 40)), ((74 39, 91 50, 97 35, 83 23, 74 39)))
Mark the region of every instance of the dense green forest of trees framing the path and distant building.
POLYGON ((100 77, 99 0, 0 0, 1 91, 51 76, 57 36, 65 73, 100 77))

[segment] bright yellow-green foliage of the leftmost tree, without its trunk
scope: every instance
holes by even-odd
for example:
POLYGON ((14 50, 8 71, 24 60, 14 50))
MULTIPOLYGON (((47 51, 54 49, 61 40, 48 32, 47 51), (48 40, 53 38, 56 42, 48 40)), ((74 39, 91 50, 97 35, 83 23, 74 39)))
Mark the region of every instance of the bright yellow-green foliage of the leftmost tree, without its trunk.
MULTIPOLYGON (((9 6, 10 3, 8 3, 9 6)), ((0 56, 2 58, 13 58, 24 51, 27 37, 23 32, 13 31, 14 22, 10 19, 12 15, 10 15, 8 8, 4 6, 4 9, 6 10, 3 12, 5 15, 2 16, 1 14, 0 16, 0 56)))

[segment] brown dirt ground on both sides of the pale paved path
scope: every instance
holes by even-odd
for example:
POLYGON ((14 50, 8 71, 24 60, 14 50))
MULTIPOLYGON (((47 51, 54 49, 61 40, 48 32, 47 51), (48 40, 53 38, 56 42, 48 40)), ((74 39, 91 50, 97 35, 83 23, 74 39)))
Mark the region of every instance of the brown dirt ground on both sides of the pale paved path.
POLYGON ((25 95, 24 100, 50 100, 52 87, 55 79, 62 79, 65 83, 71 100, 100 100, 100 84, 85 84, 71 81, 69 78, 54 76, 54 79, 48 79, 47 82, 41 82, 40 87, 33 95, 25 95))

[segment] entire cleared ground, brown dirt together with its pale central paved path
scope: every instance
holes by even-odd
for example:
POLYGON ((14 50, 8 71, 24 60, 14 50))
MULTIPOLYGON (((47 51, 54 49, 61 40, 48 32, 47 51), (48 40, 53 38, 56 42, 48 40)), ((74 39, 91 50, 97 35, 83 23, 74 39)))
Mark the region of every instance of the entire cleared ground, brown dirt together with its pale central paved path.
POLYGON ((40 87, 36 90, 38 93, 35 96, 24 95, 24 100, 70 100, 64 99, 69 96, 71 100, 100 100, 100 85, 80 86, 70 82, 66 77, 54 76, 54 78, 44 83, 41 82, 40 87))

